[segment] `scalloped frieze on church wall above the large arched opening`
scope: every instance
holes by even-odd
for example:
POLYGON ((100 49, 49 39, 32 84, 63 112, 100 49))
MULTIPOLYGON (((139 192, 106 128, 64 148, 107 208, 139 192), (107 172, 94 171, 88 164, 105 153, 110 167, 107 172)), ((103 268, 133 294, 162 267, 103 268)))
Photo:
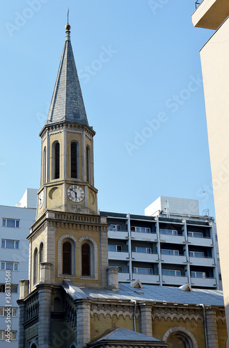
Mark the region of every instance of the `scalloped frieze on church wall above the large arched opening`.
POLYGON ((196 323, 200 319, 203 322, 203 315, 200 310, 192 308, 154 307, 152 308, 152 320, 156 317, 159 321, 161 318, 164 318, 165 321, 169 318, 172 322, 174 319, 177 319, 177 322, 180 319, 184 322, 186 319, 189 319, 189 322, 191 322, 191 319, 194 319, 196 323))

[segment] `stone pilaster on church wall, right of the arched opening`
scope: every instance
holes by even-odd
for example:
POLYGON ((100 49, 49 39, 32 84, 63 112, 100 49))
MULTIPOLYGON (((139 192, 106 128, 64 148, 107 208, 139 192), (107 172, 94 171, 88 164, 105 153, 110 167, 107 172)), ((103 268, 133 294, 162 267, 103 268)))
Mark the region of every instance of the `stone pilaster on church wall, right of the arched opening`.
POLYGON ((208 348, 219 348, 216 324, 216 310, 213 308, 205 308, 205 316, 208 348))

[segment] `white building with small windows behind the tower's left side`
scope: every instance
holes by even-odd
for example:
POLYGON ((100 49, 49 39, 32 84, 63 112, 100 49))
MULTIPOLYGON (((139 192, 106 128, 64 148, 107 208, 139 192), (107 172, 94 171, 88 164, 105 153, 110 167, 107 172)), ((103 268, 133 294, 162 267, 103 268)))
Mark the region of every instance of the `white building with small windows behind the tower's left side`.
MULTIPOLYGON (((0 205, 0 347, 18 346, 19 280, 29 276, 29 244, 26 237, 35 221, 36 190, 27 189, 23 207, 0 205), (10 283, 10 287, 7 283, 10 283), (7 309, 10 308, 10 309, 7 309), (7 326, 10 325, 10 326, 7 326), (6 336, 6 329, 10 333, 6 336)), ((19 203, 17 203, 19 205, 19 203)))

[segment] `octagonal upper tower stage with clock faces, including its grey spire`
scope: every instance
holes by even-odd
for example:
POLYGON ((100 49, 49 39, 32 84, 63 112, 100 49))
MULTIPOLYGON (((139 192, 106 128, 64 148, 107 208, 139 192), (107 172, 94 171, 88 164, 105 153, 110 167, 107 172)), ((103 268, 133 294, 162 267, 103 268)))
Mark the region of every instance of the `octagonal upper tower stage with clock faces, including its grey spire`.
POLYGON ((47 209, 97 214, 93 136, 70 41, 70 25, 45 127, 40 132, 41 180, 37 219, 47 209))

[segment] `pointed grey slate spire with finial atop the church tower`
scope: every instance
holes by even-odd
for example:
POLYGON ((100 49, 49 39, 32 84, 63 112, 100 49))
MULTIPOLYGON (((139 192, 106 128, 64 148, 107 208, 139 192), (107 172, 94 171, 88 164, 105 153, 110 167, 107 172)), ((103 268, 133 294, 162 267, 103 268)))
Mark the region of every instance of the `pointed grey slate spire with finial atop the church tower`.
POLYGON ((77 68, 70 41, 70 24, 65 26, 66 38, 58 68, 56 84, 46 124, 70 121, 88 125, 77 68))

